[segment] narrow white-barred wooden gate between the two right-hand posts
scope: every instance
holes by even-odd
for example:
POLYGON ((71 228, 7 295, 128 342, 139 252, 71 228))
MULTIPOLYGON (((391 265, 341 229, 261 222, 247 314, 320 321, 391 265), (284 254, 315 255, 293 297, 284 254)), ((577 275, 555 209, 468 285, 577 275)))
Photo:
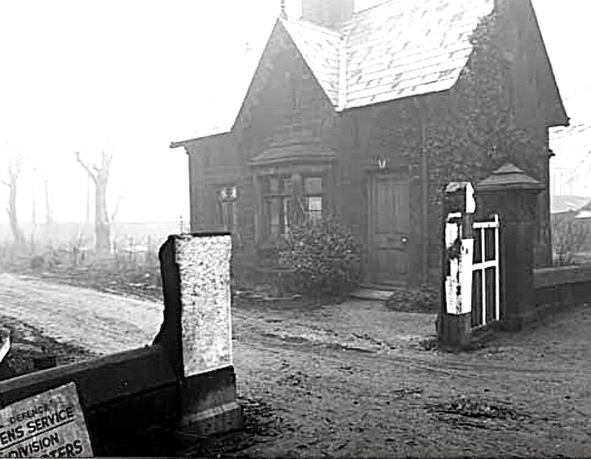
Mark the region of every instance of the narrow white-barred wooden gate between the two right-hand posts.
POLYGON ((473 229, 472 327, 482 327, 501 318, 498 215, 473 229))

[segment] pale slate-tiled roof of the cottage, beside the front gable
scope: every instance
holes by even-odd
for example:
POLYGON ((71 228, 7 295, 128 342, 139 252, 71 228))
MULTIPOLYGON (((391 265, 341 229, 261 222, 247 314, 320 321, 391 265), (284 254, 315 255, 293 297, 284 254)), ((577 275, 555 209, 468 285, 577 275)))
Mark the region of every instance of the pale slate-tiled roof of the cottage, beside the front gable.
POLYGON ((452 87, 472 51, 471 32, 493 7, 493 0, 391 0, 355 13, 337 32, 282 22, 330 101, 345 109, 452 87))

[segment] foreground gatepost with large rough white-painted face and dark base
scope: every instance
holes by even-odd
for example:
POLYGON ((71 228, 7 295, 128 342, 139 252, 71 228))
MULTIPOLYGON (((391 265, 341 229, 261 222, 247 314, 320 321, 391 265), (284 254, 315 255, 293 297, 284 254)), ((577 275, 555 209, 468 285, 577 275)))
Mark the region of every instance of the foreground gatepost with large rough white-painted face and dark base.
POLYGON ((242 428, 232 366, 229 233, 171 236, 160 250, 165 344, 180 381, 180 426, 206 436, 242 428))

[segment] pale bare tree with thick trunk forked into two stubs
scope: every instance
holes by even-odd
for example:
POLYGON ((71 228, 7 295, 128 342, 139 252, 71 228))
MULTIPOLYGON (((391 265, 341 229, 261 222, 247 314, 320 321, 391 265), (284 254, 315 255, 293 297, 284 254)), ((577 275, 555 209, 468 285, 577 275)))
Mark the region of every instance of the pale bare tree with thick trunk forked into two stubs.
POLYGON ((76 161, 80 163, 94 182, 94 231, 97 236, 97 252, 107 253, 110 250, 111 230, 106 206, 106 188, 108 171, 111 167, 112 156, 101 152, 101 165, 93 165, 92 169, 80 159, 80 152, 76 151, 76 161))

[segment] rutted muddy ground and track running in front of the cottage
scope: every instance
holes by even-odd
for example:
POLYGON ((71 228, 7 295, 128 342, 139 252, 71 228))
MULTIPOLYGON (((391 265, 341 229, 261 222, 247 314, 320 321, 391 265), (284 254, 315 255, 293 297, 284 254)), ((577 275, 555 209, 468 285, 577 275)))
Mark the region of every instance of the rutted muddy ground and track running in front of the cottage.
MULTIPOLYGON (((162 317, 158 303, 6 274, 0 308, 2 316, 95 353, 148 344, 162 317)), ((239 451, 227 439, 224 455, 591 451, 590 307, 573 307, 521 334, 499 334, 487 348, 460 355, 423 350, 419 343, 434 321, 362 301, 236 308, 239 394, 248 413, 266 416, 260 421, 270 427, 251 429, 248 441, 237 442, 239 451)))

